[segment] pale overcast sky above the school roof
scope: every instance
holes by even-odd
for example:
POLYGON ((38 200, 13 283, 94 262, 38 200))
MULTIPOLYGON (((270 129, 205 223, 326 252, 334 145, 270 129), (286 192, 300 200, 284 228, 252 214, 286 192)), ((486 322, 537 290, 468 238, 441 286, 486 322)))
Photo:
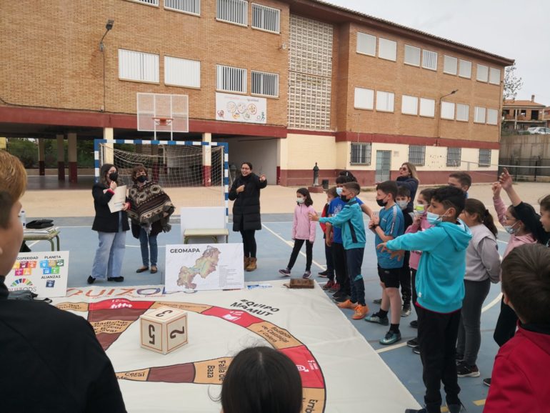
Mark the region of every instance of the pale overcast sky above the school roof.
POLYGON ((516 61, 516 99, 550 106, 549 0, 324 0, 516 61))

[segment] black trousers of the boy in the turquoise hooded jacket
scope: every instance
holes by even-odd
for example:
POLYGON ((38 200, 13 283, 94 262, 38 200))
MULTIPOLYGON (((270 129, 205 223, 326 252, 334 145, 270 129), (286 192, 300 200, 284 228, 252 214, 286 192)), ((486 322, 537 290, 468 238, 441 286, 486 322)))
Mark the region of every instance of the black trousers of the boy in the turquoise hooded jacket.
POLYGON ((419 315, 419 344, 422 379, 426 386, 424 402, 428 413, 441 412, 441 382, 447 404, 459 404, 459 379, 456 376, 455 346, 459 332, 460 310, 442 314, 416 307, 419 315))

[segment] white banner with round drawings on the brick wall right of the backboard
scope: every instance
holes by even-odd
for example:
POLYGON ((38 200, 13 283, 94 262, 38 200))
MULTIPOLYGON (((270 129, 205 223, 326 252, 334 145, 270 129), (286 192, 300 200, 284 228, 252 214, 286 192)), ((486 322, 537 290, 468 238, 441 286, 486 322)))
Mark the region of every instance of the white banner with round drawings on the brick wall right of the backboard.
POLYGON ((267 99, 216 93, 216 121, 266 124, 267 99))

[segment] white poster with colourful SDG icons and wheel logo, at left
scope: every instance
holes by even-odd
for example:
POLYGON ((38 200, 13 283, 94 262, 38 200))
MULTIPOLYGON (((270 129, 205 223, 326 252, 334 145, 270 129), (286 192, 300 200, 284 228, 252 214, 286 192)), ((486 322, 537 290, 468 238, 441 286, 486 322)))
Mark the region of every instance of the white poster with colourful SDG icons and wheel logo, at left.
POLYGON ((9 291, 29 290, 41 298, 65 297, 69 279, 69 252, 22 252, 6 275, 9 291))

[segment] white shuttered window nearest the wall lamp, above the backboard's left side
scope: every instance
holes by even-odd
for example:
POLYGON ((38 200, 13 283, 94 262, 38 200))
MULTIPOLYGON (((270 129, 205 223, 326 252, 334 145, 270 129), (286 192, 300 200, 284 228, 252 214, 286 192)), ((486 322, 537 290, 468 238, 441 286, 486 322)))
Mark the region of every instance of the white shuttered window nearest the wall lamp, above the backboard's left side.
POLYGON ((119 78, 159 83, 159 55, 119 49, 119 78))

